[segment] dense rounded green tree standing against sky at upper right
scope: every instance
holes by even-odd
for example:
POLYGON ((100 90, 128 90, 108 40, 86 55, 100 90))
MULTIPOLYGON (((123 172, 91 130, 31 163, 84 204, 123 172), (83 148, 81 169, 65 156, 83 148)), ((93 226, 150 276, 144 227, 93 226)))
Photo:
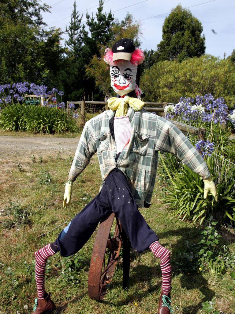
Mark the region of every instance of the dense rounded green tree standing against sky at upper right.
POLYGON ((177 5, 164 21, 158 59, 181 62, 187 57, 200 57, 206 49, 202 30, 201 22, 191 12, 177 5))

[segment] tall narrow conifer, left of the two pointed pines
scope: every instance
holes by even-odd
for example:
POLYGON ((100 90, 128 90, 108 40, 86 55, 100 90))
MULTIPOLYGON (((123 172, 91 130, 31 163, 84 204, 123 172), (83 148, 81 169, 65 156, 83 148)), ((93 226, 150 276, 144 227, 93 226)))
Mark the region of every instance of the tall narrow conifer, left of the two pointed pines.
POLYGON ((70 25, 68 28, 66 26, 66 32, 69 35, 69 39, 65 41, 65 47, 68 48, 68 57, 74 57, 75 59, 81 57, 83 34, 85 31, 85 25, 81 25, 83 14, 81 15, 81 18, 79 17, 80 14, 77 12, 77 4, 76 1, 74 1, 70 25))

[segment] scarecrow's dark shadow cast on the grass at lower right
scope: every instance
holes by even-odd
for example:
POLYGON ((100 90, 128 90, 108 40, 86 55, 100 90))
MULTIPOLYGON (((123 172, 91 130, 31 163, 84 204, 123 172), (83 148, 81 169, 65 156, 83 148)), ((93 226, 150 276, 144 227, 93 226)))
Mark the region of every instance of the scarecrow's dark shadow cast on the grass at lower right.
MULTIPOLYGON (((208 286, 207 280, 202 276, 201 273, 194 273, 188 275, 188 272, 186 273, 180 269, 177 269, 177 265, 175 265, 175 262, 177 261, 177 254, 181 252, 182 250, 185 250, 185 241, 190 241, 192 243, 197 243, 200 238, 200 230, 197 228, 181 228, 176 230, 169 230, 166 232, 162 232, 158 234, 159 239, 166 238, 168 239, 170 236, 177 236, 178 240, 172 246, 171 248, 171 263, 172 263, 172 269, 173 269, 173 277, 174 276, 180 276, 180 284, 182 288, 186 288, 187 290, 194 290, 198 289, 200 292, 201 300, 200 302, 197 302, 195 304, 190 304, 188 306, 185 306, 182 309, 182 314, 196 314, 198 313, 198 310, 202 308, 202 303, 206 300, 210 301, 213 299, 215 292, 211 290, 208 286)), ((169 245, 170 243, 165 243, 164 246, 169 245)), ((143 252, 142 254, 144 254, 143 252)), ((143 282, 151 282, 151 279, 155 278, 156 281, 158 281, 155 285, 148 285, 147 290, 143 291, 142 293, 138 293, 138 295, 134 295, 134 299, 140 301, 145 296, 147 296, 149 293, 159 289, 161 287, 161 270, 160 270, 160 264, 157 266, 149 267, 146 265, 137 265, 136 267, 133 267, 131 270, 131 277, 129 279, 129 287, 134 285, 137 282, 143 281, 143 282)), ((112 287, 116 286, 122 286, 122 281, 115 282, 112 287)), ((196 292, 194 292, 196 293, 196 292)), ((133 302, 132 296, 127 296, 125 300, 120 300, 116 305, 122 306, 127 305, 130 302, 133 302)), ((195 295, 195 300, 197 300, 198 297, 195 295)), ((174 300, 174 295, 173 295, 174 300)), ((156 300, 158 302, 158 300, 156 300)), ((106 304, 109 304, 109 302, 104 302, 106 304)), ((157 303, 158 304, 158 303, 157 303)), ((172 303, 174 305, 174 301, 172 303)))

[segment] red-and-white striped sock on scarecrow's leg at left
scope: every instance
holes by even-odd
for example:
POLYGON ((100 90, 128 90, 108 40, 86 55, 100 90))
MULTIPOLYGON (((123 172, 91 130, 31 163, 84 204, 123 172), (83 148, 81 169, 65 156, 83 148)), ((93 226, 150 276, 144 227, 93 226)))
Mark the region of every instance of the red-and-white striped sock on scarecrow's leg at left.
POLYGON ((46 261, 49 256, 54 255, 55 252, 51 249, 50 244, 47 244, 40 250, 34 253, 35 255, 35 280, 38 291, 39 300, 44 299, 45 290, 45 270, 46 261))

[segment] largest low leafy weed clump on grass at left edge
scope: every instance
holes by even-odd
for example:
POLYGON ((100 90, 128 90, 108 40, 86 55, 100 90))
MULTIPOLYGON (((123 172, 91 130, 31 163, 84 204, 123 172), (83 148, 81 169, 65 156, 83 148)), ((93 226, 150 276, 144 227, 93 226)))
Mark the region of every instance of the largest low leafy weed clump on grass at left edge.
POLYGON ((19 203, 11 202, 10 206, 6 206, 1 215, 7 217, 3 220, 3 226, 7 229, 19 229, 23 225, 30 225, 31 212, 28 208, 21 206, 19 203))

